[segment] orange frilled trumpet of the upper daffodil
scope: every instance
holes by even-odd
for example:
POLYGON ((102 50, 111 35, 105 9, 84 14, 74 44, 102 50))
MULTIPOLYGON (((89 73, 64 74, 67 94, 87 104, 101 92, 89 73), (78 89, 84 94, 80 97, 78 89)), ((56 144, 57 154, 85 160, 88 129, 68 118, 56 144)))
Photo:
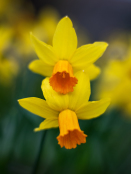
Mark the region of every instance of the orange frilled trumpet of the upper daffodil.
POLYGON ((66 60, 59 60, 53 69, 50 77, 50 85, 56 92, 66 94, 73 91, 73 87, 77 84, 77 78, 73 75, 73 69, 66 60))

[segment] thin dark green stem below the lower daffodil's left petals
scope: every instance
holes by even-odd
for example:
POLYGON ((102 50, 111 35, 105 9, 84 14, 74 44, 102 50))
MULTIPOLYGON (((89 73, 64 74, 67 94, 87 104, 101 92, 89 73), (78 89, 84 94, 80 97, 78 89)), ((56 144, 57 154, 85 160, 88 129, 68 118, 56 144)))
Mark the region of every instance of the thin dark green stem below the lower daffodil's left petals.
POLYGON ((42 147, 43 147, 43 144, 44 144, 44 141, 45 141, 46 134, 47 134, 47 130, 45 130, 42 134, 41 141, 40 141, 40 147, 39 147, 39 151, 38 151, 36 161, 35 161, 35 164, 34 164, 34 167, 33 167, 32 174, 37 174, 37 172, 38 172, 40 157, 41 157, 41 154, 42 154, 42 147))

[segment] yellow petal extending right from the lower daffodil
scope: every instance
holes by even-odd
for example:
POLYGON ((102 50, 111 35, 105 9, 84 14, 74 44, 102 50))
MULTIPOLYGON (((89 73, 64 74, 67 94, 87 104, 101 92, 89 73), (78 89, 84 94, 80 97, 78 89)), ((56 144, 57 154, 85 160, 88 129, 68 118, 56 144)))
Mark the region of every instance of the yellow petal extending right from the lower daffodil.
POLYGON ((89 102, 76 111, 78 119, 88 120, 100 116, 105 112, 110 104, 110 99, 101 99, 99 101, 89 102))

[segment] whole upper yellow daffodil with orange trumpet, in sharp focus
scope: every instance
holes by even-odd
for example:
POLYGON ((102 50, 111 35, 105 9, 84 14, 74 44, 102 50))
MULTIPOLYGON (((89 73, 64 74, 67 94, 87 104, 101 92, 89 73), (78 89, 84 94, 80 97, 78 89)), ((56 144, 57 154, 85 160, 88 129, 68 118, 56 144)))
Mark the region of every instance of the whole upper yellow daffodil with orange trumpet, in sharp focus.
POLYGON ((68 17, 60 20, 53 37, 53 46, 47 45, 31 34, 31 40, 40 60, 34 60, 29 68, 38 74, 50 77, 49 82, 56 92, 66 94, 73 91, 78 79, 74 75, 85 70, 90 79, 100 69, 93 63, 102 56, 108 44, 95 42, 77 49, 77 36, 68 17))

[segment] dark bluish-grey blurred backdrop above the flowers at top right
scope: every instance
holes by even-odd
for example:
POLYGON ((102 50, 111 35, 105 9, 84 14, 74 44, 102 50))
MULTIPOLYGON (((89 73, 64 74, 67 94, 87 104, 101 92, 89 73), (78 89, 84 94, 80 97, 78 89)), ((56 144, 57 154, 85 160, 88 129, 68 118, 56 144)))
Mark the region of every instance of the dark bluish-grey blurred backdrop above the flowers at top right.
POLYGON ((46 6, 55 7, 61 16, 77 19, 91 34, 101 40, 114 30, 131 29, 130 0, 32 0, 36 13, 46 6))

